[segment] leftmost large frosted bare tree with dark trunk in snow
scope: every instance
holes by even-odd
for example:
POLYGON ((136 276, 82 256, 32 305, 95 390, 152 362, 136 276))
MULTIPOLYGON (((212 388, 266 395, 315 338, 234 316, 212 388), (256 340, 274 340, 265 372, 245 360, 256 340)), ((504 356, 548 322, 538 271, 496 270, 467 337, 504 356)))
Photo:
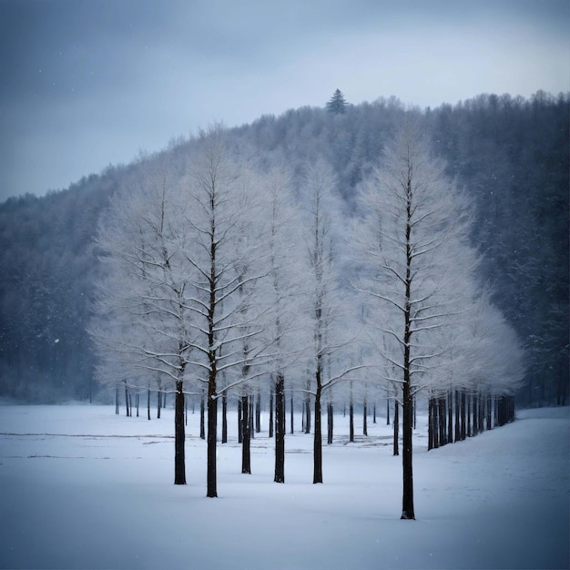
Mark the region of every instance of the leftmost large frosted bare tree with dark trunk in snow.
POLYGON ((188 270, 180 255, 178 204, 164 165, 141 163, 139 176, 117 195, 97 246, 106 271, 97 284, 90 333, 99 373, 131 385, 170 385, 175 403, 175 484, 186 483, 184 376, 190 349, 188 270))

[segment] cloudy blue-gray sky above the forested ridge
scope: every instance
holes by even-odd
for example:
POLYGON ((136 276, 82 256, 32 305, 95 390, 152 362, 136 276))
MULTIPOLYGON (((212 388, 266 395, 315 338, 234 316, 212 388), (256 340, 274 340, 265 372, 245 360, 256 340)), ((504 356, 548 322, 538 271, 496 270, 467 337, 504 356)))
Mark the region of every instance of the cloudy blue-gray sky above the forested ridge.
POLYGON ((570 90, 568 0, 0 0, 0 201, 213 121, 570 90))

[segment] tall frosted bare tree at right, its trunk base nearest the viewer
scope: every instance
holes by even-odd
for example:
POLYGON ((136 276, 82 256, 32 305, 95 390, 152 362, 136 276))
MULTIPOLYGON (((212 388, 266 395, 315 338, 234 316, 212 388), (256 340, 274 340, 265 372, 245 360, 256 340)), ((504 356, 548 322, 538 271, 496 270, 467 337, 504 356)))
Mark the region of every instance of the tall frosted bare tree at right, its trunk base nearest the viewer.
POLYGON ((415 518, 413 398, 448 351, 437 331, 453 326, 472 302, 472 290, 465 290, 471 275, 458 264, 471 259, 465 204, 443 168, 408 116, 365 185, 354 237, 361 256, 356 287, 388 345, 385 377, 402 389, 402 519, 415 518))

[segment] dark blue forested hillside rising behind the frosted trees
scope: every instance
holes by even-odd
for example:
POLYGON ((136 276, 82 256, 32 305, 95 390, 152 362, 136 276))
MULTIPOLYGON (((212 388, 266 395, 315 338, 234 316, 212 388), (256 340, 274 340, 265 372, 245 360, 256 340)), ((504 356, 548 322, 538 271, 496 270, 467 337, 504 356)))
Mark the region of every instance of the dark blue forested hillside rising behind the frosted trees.
MULTIPOLYGON (((483 277, 527 349, 523 403, 567 394, 569 103, 542 92, 528 100, 485 95, 422 112, 433 150, 473 198, 483 277)), ((329 161, 348 217, 355 189, 406 111, 395 99, 343 110, 302 107, 230 134, 293 176, 307 161, 329 161)), ((192 144, 161 156, 178 168, 192 144)), ((97 275, 92 239, 108 199, 137 168, 108 168, 44 198, 0 205, 0 394, 54 401, 95 392, 86 331, 97 275)))

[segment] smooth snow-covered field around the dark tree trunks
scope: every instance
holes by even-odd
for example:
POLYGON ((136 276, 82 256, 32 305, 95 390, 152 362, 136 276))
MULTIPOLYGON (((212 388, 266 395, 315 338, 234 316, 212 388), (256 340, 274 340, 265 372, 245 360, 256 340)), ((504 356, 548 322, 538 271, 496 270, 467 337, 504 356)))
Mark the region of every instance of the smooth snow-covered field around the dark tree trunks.
POLYGON ((568 408, 517 417, 429 453, 419 419, 417 520, 401 521, 401 459, 383 418, 348 444, 348 418, 335 416, 325 483, 313 485, 312 435, 300 433, 287 435, 285 484, 272 482, 267 433, 242 475, 232 415, 208 499, 198 412, 188 484, 175 486, 171 410, 148 422, 114 406, 2 405, 0 567, 568 568, 568 408))

